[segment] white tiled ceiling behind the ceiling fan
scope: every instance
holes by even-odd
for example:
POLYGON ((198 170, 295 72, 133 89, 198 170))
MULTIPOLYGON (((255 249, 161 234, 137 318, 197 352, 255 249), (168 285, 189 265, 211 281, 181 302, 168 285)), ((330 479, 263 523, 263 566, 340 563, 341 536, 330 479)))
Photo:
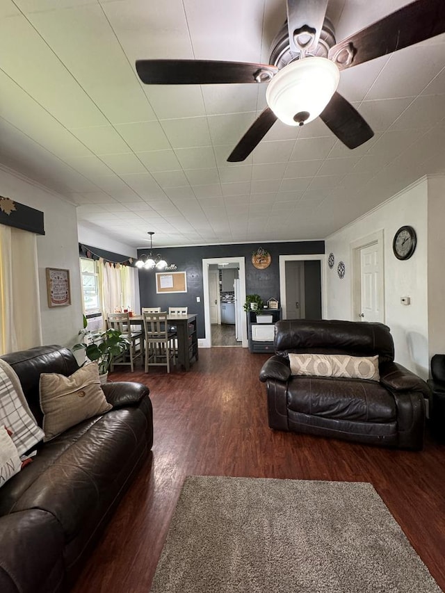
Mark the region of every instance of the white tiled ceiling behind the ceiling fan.
MULTIPOLYGON (((407 3, 330 0, 327 16, 340 41, 407 3)), ((325 238, 445 173, 445 35, 341 72, 375 132, 353 151, 319 119, 277 122, 227 163, 266 85, 136 74, 138 58, 268 63, 285 19, 282 0, 0 0, 0 163, 133 247, 147 231, 154 247, 325 238)))

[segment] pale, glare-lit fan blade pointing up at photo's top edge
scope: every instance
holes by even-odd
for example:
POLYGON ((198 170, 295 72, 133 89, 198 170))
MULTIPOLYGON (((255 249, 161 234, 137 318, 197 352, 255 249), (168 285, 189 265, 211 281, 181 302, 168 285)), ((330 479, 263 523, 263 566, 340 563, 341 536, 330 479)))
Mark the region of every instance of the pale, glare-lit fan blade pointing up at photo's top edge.
POLYGON ((287 28, 291 52, 317 47, 328 0, 287 0, 287 28))

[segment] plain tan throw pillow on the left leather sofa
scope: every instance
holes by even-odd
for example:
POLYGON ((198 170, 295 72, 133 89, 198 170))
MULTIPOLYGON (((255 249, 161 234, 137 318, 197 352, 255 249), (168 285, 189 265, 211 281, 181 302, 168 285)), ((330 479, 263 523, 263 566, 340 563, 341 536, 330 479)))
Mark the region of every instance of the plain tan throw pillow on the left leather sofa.
POLYGON ((40 375, 44 441, 57 437, 83 420, 108 412, 109 404, 100 387, 99 366, 92 362, 65 377, 58 373, 40 375))

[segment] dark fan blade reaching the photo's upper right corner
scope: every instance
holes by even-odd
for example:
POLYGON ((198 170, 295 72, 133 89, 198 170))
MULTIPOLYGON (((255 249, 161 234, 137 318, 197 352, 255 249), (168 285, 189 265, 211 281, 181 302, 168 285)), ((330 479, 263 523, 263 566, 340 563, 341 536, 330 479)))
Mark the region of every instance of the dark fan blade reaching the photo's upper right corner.
POLYGON ((340 70, 445 33, 445 2, 416 0, 350 35, 329 50, 340 70))

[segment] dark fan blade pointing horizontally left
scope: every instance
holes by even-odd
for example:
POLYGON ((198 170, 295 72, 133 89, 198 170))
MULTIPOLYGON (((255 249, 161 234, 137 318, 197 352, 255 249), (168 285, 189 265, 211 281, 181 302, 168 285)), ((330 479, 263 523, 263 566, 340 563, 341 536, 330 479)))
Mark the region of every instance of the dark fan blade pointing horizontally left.
POLYGON ((268 64, 218 60, 136 60, 145 84, 226 84, 268 82, 278 68, 268 64))

